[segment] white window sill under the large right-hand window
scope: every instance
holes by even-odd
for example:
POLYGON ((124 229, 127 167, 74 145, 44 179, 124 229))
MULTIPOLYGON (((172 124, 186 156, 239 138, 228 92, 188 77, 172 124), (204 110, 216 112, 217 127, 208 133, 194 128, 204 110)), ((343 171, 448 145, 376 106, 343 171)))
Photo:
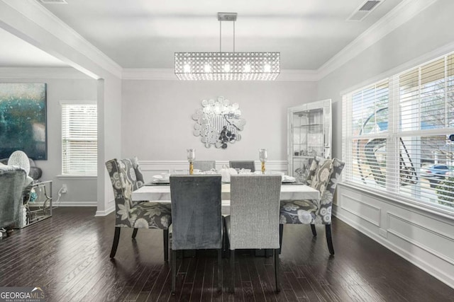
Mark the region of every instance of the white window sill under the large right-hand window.
POLYGON ((452 211, 445 209, 443 207, 437 207, 436 205, 433 204, 428 204, 425 202, 418 202, 414 199, 409 199, 405 198, 402 196, 399 196, 397 194, 392 194, 389 192, 385 191, 380 191, 380 190, 374 190, 373 188, 367 187, 365 189, 364 187, 360 187, 354 183, 351 182, 339 182, 338 185, 348 187, 350 189, 359 191, 364 194, 371 194, 373 197, 379 199, 382 202, 387 202, 388 204, 392 204, 397 207, 403 207, 403 208, 412 208, 416 209, 421 212, 421 214, 430 214, 431 216, 437 216, 441 217, 443 219, 449 219, 449 221, 452 223, 454 221, 454 209, 452 211))

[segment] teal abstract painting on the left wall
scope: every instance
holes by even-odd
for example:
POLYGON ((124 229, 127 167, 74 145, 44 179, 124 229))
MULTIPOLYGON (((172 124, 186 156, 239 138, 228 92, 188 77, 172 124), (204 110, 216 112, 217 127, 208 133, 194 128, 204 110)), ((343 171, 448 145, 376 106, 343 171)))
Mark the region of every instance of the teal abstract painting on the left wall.
POLYGON ((0 158, 48 159, 45 83, 0 83, 0 158))

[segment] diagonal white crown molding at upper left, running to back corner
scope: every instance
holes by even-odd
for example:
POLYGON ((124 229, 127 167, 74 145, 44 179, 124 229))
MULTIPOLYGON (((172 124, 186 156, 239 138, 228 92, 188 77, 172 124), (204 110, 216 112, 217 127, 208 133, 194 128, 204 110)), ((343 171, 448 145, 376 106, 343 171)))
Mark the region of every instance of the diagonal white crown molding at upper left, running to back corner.
MULTIPOLYGON (((84 57, 90 59, 94 64, 101 66, 102 69, 109 71, 109 73, 121 78, 122 68, 113 59, 108 57, 104 52, 94 47, 89 41, 85 40, 82 35, 79 35, 69 25, 61 21, 57 16, 51 13, 47 8, 42 6, 35 0, 2 0, 5 4, 13 8, 22 16, 27 18, 32 23, 40 26, 43 30, 47 31, 57 39, 65 42, 66 45, 72 47, 84 57)), ((71 62, 72 63, 72 62, 71 62)), ((71 64, 73 65, 73 64, 71 64)), ((75 66, 74 68, 79 68, 75 66)), ((81 69, 83 71, 83 69, 81 69)), ((93 75, 91 75, 93 76, 93 75)))

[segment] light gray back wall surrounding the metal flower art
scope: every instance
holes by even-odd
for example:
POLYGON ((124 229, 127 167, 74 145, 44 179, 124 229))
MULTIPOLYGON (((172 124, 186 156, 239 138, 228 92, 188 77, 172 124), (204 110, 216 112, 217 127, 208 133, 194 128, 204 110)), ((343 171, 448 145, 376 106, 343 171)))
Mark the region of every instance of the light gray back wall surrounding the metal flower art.
POLYGON ((202 160, 287 160, 287 108, 316 100, 315 82, 220 82, 123 80, 122 156, 141 161, 186 161, 195 148, 202 160), (206 149, 194 137, 191 116, 201 100, 223 96, 238 103, 245 118, 241 141, 227 149, 206 149))

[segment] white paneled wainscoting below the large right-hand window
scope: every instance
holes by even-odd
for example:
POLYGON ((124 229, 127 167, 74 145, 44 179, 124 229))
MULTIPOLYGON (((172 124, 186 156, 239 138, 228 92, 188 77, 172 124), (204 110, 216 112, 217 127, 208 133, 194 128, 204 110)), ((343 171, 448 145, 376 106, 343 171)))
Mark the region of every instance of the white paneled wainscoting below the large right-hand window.
POLYGON ((454 288, 454 219, 341 183, 337 201, 338 219, 454 288))

